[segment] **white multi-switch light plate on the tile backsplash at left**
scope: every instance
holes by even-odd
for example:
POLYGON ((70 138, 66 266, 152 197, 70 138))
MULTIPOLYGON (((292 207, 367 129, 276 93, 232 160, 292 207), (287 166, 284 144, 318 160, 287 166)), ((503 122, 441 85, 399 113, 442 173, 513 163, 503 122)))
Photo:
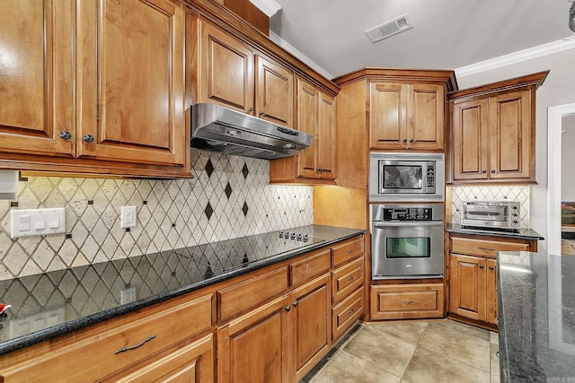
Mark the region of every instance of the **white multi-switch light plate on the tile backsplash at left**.
POLYGON ((66 211, 53 209, 12 209, 10 211, 10 237, 32 237, 66 232, 66 211))

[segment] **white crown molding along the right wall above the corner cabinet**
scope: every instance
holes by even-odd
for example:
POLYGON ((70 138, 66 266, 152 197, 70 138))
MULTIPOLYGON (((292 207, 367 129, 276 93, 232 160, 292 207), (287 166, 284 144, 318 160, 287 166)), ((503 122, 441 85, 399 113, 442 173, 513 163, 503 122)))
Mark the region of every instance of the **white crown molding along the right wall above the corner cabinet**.
POLYGON ((491 71, 502 66, 513 65, 523 61, 532 60, 537 57, 553 55, 575 48, 575 39, 559 39, 533 48, 519 50, 500 57, 490 58, 489 60, 480 61, 472 65, 461 66, 456 68, 456 77, 464 77, 472 74, 491 71))

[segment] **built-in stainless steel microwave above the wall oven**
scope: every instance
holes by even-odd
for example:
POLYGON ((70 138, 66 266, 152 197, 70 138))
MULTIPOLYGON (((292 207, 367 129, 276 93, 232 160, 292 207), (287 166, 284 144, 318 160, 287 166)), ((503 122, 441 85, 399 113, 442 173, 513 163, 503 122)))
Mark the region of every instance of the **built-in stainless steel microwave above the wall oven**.
POLYGON ((444 195, 444 154, 369 154, 370 202, 443 201, 444 195))

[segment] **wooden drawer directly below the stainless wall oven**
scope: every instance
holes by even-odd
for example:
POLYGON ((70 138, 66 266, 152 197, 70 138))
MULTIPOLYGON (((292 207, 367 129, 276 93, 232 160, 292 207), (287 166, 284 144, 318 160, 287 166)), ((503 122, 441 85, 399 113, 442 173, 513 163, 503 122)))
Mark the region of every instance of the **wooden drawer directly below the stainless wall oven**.
POLYGON ((443 317, 443 283, 371 286, 371 318, 443 317))

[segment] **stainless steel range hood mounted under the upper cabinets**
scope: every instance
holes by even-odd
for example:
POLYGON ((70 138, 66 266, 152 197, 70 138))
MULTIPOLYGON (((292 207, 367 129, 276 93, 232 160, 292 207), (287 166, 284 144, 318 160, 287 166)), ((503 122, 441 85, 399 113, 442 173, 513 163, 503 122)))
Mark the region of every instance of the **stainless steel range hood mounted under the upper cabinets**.
POLYGON ((290 157, 312 144, 312 135, 217 104, 191 106, 191 147, 244 157, 290 157))

